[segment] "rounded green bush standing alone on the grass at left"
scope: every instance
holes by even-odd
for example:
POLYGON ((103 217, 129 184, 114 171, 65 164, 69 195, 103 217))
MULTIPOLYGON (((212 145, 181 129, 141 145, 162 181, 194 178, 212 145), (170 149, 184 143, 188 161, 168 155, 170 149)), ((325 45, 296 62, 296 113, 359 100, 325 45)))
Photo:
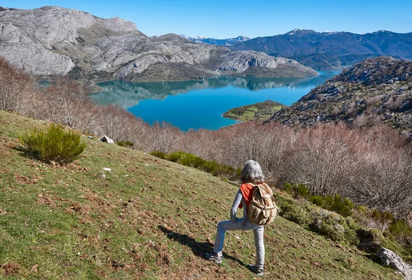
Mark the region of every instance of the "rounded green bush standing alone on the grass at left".
POLYGON ((19 136, 27 151, 45 162, 66 164, 75 160, 86 148, 80 135, 61 125, 50 125, 47 129, 34 128, 19 136))

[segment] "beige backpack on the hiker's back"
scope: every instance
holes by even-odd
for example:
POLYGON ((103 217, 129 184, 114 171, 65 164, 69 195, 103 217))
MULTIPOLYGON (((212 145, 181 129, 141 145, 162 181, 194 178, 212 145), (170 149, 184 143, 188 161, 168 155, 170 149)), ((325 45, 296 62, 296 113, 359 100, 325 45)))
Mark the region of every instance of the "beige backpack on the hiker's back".
POLYGON ((251 186, 253 186, 252 200, 247 209, 249 220, 261 226, 270 224, 279 212, 273 192, 265 183, 251 184, 251 186))

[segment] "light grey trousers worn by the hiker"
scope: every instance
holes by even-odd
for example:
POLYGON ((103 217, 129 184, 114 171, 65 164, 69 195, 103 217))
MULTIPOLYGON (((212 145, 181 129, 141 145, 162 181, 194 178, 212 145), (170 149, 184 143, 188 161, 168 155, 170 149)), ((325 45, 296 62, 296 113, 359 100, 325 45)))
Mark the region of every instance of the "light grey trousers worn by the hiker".
POLYGON ((263 268, 264 265, 264 244, 263 244, 263 231, 264 226, 259 226, 253 224, 246 219, 244 224, 244 217, 241 219, 236 219, 235 222, 231 222, 230 219, 227 221, 222 221, 218 224, 218 230, 216 233, 216 239, 214 244, 214 252, 218 255, 222 255, 223 243, 225 241, 226 230, 253 230, 253 235, 255 236, 255 248, 256 248, 256 263, 255 266, 258 268, 263 268))

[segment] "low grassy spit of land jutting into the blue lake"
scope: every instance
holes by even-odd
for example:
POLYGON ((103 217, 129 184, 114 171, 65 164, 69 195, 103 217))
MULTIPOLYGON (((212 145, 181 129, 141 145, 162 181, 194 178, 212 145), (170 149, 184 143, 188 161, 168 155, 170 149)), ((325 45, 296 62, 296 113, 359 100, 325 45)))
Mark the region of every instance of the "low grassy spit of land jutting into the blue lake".
POLYGON ((247 122, 249 120, 270 118, 276 111, 279 111, 283 107, 286 106, 273 100, 266 100, 264 102, 230 109, 223 114, 223 116, 225 118, 247 122))

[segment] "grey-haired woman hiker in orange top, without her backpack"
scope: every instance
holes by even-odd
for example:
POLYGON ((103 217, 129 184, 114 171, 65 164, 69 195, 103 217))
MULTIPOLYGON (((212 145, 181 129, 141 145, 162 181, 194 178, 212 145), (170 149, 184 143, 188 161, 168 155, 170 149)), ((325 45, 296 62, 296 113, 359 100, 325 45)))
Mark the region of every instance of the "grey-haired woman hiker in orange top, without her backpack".
POLYGON ((222 250, 223 242, 225 241, 226 230, 253 230, 255 235, 255 247, 256 247, 256 262, 255 265, 249 264, 247 268, 252 272, 255 272, 259 276, 263 276, 263 264, 264 264, 264 244, 263 244, 263 231, 264 226, 259 226, 249 221, 247 216, 247 208, 251 201, 253 186, 252 184, 262 184, 264 182, 264 175, 258 162, 248 160, 245 162, 242 170, 242 184, 239 191, 236 194, 235 201, 231 206, 230 219, 218 223, 217 233, 213 252, 205 253, 205 258, 215 263, 222 263, 222 250), (243 217, 236 217, 236 211, 238 208, 243 208, 243 217))

